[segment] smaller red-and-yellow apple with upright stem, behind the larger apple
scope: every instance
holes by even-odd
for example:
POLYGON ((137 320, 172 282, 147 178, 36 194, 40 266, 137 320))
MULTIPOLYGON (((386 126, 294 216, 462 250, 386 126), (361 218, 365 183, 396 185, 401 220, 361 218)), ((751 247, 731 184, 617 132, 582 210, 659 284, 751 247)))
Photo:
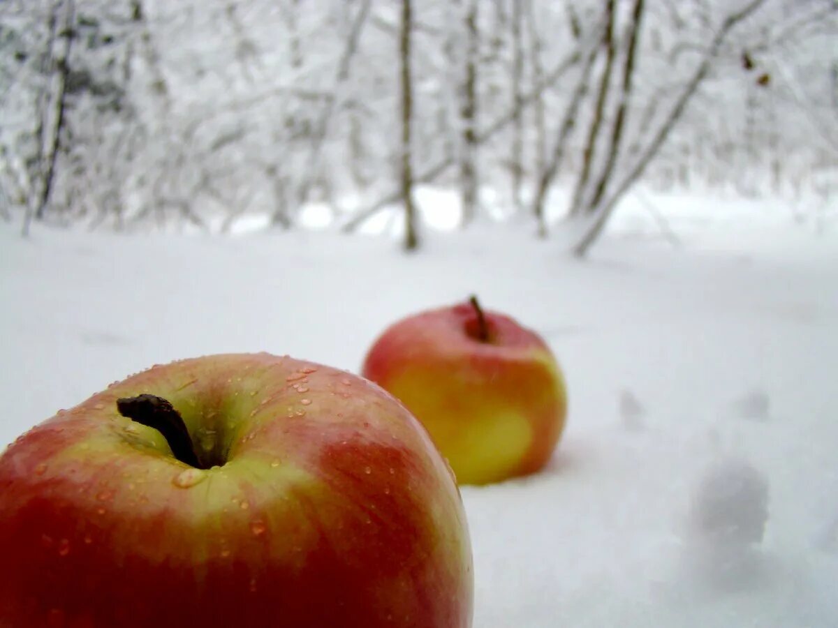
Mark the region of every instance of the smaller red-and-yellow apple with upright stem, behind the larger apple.
POLYGON ((362 373, 422 421, 461 484, 541 470, 564 429, 564 379, 551 350, 477 299, 385 330, 362 373))

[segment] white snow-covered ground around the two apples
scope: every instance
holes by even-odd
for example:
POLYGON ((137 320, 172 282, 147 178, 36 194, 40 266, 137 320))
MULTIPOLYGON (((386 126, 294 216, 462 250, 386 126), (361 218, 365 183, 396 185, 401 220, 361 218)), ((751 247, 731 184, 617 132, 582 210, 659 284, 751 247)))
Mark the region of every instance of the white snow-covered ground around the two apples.
POLYGON ((623 211, 584 263, 509 225, 429 234, 418 255, 7 225, 0 447, 174 358, 357 370, 389 323, 474 292, 546 337, 571 404, 546 471, 463 490, 475 628, 838 625, 838 225, 654 208, 623 211))

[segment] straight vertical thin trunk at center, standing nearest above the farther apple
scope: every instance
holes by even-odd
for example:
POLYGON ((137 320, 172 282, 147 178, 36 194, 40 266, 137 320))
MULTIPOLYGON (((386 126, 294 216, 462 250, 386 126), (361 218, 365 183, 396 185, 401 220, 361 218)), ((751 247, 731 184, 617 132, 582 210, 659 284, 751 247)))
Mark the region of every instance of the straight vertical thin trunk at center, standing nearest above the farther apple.
POLYGON ((411 122, 413 85, 411 84, 411 0, 401 0, 401 200, 405 205, 405 249, 419 245, 416 235, 416 207, 413 203, 413 173, 411 170, 411 122))

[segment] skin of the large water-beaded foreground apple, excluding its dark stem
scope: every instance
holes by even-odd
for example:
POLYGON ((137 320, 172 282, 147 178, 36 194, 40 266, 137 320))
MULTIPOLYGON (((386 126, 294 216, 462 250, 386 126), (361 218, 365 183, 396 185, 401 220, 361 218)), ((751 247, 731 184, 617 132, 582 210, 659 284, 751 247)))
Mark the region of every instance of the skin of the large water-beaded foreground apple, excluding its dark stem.
POLYGON ((455 481, 374 383, 230 354, 156 366, 0 457, 0 627, 468 628, 473 568, 455 481), (199 471, 118 414, 172 402, 199 471))

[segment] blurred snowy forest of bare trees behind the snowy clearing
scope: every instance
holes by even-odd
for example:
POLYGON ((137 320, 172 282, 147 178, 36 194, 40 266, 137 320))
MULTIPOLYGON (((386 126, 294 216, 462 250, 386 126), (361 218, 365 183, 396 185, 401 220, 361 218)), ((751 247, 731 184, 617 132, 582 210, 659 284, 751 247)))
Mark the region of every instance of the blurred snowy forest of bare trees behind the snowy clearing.
POLYGON ((835 0, 0 0, 0 219, 570 229, 838 194, 835 0), (421 203, 420 203, 421 204, 421 203))

